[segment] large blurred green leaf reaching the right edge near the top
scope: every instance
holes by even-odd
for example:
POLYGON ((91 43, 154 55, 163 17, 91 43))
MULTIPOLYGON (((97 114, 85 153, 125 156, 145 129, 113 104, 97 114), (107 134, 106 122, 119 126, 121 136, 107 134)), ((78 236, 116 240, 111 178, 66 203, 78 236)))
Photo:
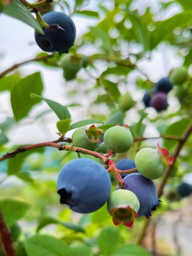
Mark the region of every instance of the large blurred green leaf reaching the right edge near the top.
POLYGON ((182 12, 173 17, 158 22, 156 29, 151 32, 150 47, 155 48, 161 41, 169 40, 173 30, 177 27, 184 28, 192 23, 192 11, 182 12))

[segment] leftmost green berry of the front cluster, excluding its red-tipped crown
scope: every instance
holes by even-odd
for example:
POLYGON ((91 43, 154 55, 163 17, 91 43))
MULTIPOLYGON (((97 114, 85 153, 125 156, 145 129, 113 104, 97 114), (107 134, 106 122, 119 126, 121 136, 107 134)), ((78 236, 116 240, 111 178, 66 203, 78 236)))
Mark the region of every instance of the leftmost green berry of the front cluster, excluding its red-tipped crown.
POLYGON ((95 151, 98 143, 97 142, 91 142, 86 135, 85 132, 86 128, 82 127, 77 129, 72 136, 73 145, 75 147, 84 148, 88 150, 95 151))

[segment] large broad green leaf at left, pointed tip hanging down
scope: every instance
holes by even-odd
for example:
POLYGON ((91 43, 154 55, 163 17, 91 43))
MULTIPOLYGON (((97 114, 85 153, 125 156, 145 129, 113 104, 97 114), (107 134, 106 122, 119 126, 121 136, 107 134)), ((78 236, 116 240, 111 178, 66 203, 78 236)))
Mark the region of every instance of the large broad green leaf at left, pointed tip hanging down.
POLYGON ((39 99, 31 99, 32 93, 41 95, 43 82, 40 72, 36 72, 20 80, 11 91, 11 106, 16 121, 26 117, 39 99))

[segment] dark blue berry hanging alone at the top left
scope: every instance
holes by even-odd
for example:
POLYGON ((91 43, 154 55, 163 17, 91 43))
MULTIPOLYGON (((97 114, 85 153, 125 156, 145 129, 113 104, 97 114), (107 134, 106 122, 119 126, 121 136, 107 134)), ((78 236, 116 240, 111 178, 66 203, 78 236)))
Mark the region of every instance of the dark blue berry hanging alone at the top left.
POLYGON ((68 53, 76 37, 73 20, 61 12, 50 12, 42 17, 47 24, 58 24, 61 28, 53 29, 53 31, 45 28, 44 35, 35 31, 35 41, 38 46, 45 52, 68 53))

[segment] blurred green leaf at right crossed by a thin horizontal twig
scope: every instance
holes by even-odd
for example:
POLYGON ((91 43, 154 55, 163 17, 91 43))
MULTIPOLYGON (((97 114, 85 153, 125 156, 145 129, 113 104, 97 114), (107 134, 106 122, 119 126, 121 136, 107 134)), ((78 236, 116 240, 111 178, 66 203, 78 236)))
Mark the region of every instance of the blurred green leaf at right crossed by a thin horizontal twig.
MULTIPOLYGON (((164 135, 178 135, 182 136, 184 131, 187 129, 190 123, 189 119, 182 119, 179 122, 173 123, 170 125, 164 132, 164 135)), ((176 146, 178 143, 177 140, 166 140, 164 139, 164 146, 166 149, 170 150, 172 147, 176 146)))

